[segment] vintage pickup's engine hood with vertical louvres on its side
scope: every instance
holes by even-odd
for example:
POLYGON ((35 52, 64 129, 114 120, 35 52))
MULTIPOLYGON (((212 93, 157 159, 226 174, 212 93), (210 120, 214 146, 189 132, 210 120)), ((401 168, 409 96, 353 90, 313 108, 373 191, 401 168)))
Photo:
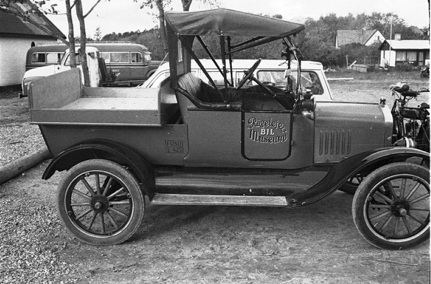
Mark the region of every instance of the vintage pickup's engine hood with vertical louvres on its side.
POLYGON ((318 102, 314 126, 314 163, 339 162, 391 143, 392 117, 387 105, 318 102))

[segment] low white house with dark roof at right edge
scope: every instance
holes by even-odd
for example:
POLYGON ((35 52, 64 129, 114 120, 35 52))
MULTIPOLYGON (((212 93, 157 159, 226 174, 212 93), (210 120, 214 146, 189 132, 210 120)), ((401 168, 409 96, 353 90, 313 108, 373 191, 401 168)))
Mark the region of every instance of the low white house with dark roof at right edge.
POLYGON ((380 66, 408 63, 413 66, 429 65, 428 40, 384 40, 378 47, 380 66))

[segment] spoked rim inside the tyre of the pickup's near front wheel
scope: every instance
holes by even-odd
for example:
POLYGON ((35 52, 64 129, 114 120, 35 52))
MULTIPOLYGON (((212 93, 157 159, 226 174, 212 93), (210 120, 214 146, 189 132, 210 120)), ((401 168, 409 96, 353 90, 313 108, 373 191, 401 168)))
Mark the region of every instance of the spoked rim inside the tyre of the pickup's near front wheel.
POLYGON ((429 184, 414 175, 387 177, 368 193, 363 214, 379 239, 395 243, 415 239, 429 228, 429 184))

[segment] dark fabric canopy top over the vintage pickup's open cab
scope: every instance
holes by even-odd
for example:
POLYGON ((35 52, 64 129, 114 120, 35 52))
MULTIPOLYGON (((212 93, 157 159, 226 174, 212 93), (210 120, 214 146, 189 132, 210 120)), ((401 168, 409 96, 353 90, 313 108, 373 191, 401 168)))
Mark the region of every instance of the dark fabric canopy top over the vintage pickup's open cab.
POLYGON ((304 25, 229 9, 166 11, 165 20, 177 35, 224 35, 284 37, 304 25))

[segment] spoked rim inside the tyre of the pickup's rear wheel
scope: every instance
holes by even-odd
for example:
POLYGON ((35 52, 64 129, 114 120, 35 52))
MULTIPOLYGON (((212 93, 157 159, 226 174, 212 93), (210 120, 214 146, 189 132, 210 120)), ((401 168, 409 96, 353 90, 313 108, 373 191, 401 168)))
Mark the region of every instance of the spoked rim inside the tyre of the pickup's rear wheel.
POLYGON ((64 208, 71 224, 96 238, 121 233, 133 214, 133 200, 125 183, 104 171, 88 171, 68 185, 64 208))

